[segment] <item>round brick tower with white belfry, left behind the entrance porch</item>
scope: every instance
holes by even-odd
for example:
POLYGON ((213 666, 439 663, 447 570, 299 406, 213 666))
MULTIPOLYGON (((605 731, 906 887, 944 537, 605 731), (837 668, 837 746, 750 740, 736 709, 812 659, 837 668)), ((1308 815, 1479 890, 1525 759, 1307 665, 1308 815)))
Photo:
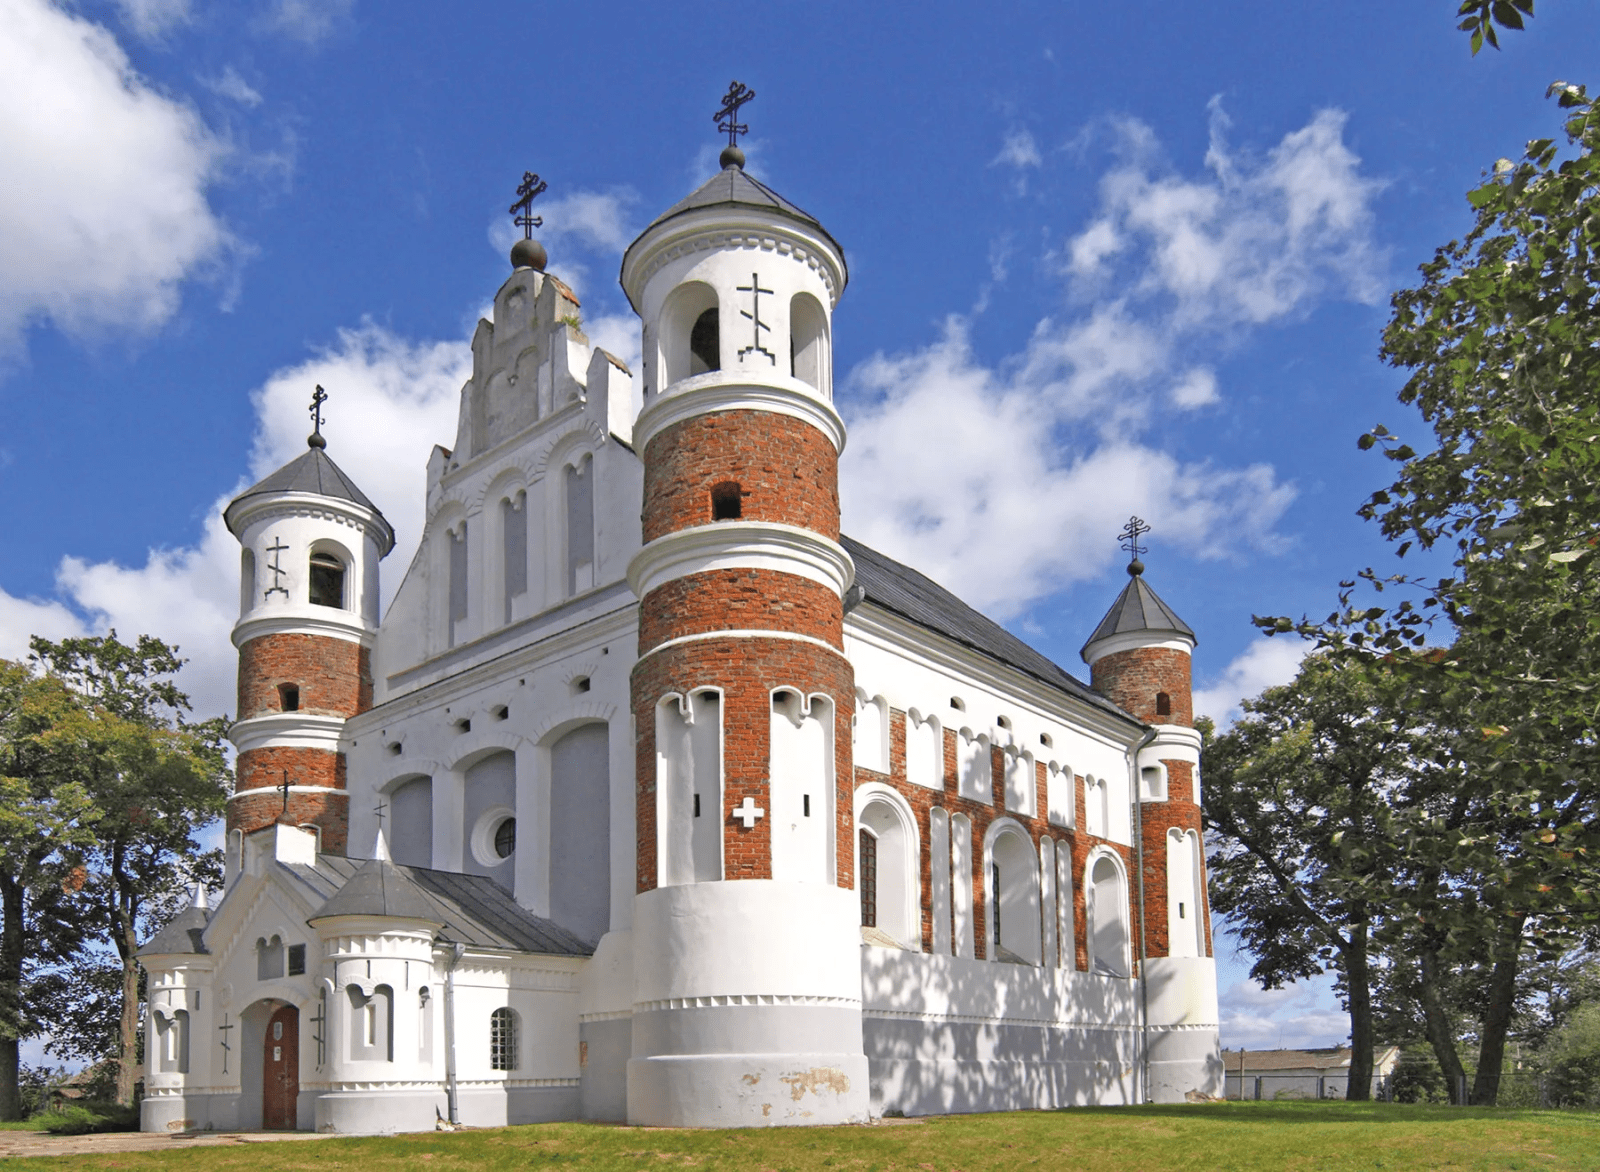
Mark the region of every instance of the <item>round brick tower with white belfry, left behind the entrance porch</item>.
POLYGON ((320 427, 307 447, 222 514, 243 546, 230 879, 243 837, 274 823, 314 828, 322 850, 346 853, 339 740, 373 703, 378 562, 394 530, 328 458, 320 427))

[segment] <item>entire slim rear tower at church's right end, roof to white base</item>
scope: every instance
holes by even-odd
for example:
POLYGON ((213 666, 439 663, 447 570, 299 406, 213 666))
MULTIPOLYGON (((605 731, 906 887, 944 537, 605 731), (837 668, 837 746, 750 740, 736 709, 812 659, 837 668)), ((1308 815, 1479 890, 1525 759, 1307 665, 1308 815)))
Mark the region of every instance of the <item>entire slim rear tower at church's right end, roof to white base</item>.
MULTIPOLYGON (((1200 733, 1194 728, 1195 632, 1128 567, 1128 586, 1083 645, 1094 690, 1150 725, 1134 762, 1144 858, 1144 977, 1150 1084, 1182 1102, 1216 1082, 1216 964, 1200 836, 1200 733)), ((1138 898, 1138 897, 1134 897, 1138 898)), ((1134 908, 1138 913, 1138 908, 1134 908)))

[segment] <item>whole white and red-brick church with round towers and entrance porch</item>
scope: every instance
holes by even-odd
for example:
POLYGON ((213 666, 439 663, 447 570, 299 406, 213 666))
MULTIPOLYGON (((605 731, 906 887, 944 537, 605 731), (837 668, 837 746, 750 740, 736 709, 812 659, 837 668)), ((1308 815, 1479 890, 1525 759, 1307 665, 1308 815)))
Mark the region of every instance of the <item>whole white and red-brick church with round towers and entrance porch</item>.
POLYGON ((642 408, 512 250, 387 615, 320 424, 229 504, 227 887, 141 953, 146 1130, 1219 1094, 1194 632, 1134 560, 1086 687, 842 536, 845 256, 722 162, 622 259, 642 408))

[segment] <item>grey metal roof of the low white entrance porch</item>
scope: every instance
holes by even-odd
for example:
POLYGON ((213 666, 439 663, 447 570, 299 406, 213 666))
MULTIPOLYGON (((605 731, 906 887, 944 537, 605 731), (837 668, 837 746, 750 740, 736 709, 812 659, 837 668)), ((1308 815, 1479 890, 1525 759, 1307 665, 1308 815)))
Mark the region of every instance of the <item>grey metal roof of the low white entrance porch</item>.
MULTIPOLYGON (((331 903, 339 890, 371 861, 376 860, 320 855, 314 866, 304 863, 285 863, 283 866, 331 903)), ((440 940, 470 948, 501 948, 542 956, 592 956, 595 951, 594 945, 578 938, 560 924, 530 913, 493 879, 387 861, 384 866, 403 876, 414 898, 427 905, 429 913, 418 916, 418 919, 442 924, 440 940)), ((314 919, 322 919, 326 914, 330 913, 325 903, 314 919)))

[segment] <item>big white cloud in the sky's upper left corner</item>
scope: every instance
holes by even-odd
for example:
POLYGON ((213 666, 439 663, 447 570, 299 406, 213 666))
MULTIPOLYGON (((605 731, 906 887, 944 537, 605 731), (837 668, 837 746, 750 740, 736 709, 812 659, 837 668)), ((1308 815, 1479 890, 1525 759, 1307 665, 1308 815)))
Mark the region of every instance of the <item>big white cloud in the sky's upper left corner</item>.
POLYGON ((0 0, 0 352, 50 320, 150 330, 229 234, 206 203, 222 147, 117 40, 45 0, 0 0))

